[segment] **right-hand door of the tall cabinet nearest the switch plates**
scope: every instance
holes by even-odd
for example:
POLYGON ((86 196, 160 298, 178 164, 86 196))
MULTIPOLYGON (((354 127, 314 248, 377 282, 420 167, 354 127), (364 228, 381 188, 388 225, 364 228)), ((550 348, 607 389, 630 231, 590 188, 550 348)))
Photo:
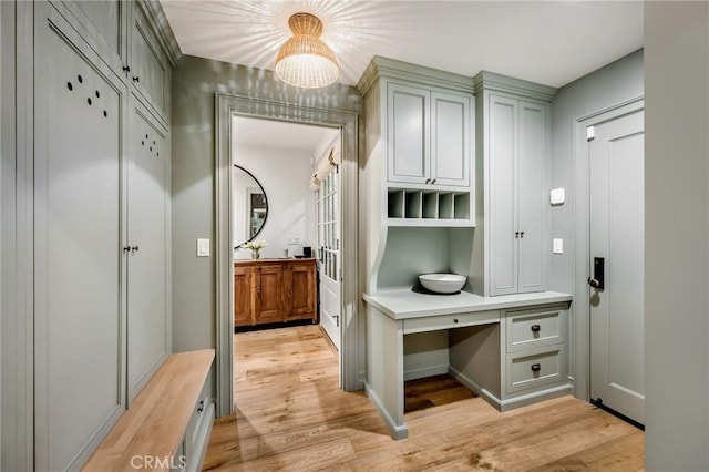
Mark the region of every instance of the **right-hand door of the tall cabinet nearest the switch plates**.
POLYGON ((546 106, 520 101, 518 214, 520 290, 544 289, 544 228, 548 208, 546 192, 546 106), (524 233, 522 233, 524 232, 524 233))

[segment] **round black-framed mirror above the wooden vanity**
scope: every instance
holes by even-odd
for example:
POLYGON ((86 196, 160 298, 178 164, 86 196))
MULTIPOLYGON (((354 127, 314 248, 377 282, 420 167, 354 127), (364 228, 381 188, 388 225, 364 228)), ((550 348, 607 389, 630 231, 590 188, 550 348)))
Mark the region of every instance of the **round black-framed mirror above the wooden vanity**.
POLYGON ((256 236, 264 228, 268 216, 268 199, 260 182, 244 167, 234 164, 234 248, 238 248, 256 236))

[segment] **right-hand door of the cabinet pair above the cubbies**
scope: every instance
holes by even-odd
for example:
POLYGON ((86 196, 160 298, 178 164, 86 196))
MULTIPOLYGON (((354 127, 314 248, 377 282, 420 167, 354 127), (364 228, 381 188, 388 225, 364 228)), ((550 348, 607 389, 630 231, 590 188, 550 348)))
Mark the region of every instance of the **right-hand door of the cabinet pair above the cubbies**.
POLYGON ((470 185, 471 98, 431 94, 431 184, 470 185))

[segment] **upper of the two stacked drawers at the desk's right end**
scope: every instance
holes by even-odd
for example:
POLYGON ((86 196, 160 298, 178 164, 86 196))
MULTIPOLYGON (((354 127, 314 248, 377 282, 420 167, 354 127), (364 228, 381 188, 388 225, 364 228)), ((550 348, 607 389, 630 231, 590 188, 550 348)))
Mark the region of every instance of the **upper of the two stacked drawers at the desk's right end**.
POLYGON ((562 308, 507 312, 507 352, 564 342, 566 318, 562 308))

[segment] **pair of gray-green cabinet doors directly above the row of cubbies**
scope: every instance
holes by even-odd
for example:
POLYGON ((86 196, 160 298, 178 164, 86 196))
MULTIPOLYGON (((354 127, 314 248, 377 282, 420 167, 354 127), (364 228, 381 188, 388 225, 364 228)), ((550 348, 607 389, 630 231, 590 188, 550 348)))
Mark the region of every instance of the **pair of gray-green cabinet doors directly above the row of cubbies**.
POLYGON ((470 113, 470 95, 388 83, 389 183, 467 187, 470 113))

